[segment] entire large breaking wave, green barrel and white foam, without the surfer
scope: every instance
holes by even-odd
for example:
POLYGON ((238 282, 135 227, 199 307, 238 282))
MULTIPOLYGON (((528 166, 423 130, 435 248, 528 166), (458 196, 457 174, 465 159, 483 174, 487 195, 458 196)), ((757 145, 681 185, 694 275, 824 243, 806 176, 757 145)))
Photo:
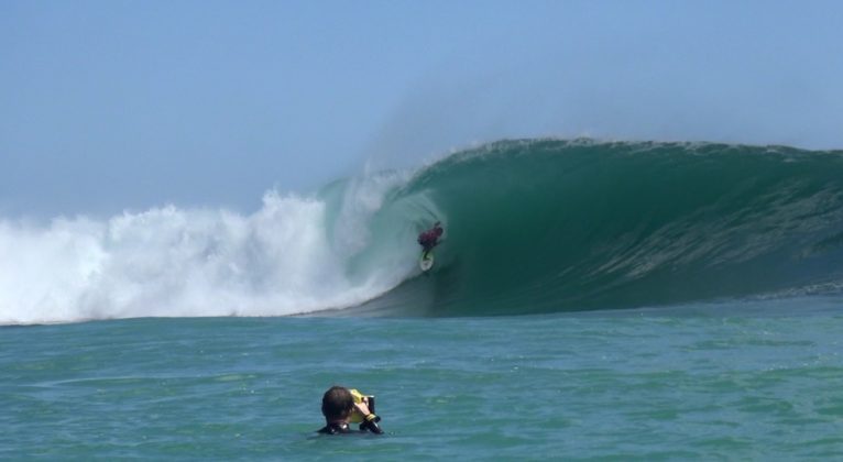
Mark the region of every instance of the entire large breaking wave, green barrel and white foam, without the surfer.
POLYGON ((835 292, 842 266, 843 152, 503 141, 252 215, 0 221, 0 323, 655 307, 835 292))

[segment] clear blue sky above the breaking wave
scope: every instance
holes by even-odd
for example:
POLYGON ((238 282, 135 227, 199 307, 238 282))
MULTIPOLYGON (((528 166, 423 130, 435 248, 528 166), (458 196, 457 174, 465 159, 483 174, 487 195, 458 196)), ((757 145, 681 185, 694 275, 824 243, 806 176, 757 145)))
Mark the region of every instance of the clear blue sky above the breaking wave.
POLYGON ((538 135, 841 148, 843 2, 0 0, 0 217, 538 135))

